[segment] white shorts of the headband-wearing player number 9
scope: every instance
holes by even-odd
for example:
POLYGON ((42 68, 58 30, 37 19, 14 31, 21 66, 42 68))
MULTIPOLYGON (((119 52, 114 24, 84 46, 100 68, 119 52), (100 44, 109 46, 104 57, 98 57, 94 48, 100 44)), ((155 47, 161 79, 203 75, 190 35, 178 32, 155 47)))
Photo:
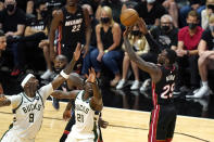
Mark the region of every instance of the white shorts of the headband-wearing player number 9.
POLYGON ((22 139, 16 135, 16 133, 12 130, 8 130, 0 142, 35 142, 35 139, 22 139))

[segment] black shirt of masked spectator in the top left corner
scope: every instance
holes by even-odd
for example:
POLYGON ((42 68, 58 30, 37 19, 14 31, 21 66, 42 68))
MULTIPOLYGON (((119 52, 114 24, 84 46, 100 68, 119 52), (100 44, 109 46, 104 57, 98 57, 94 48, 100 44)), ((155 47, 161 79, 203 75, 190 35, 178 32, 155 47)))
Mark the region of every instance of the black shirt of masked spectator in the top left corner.
POLYGON ((0 23, 4 33, 17 31, 17 25, 25 25, 25 13, 18 8, 13 15, 9 15, 7 10, 0 12, 0 23))

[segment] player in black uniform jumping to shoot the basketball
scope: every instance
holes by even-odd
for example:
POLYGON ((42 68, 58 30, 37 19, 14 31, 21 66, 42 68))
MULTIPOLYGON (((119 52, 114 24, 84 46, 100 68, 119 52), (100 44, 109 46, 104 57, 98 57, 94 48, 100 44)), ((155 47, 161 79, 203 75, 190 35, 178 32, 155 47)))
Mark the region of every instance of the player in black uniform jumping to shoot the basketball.
MULTIPOLYGON (((140 31, 146 36, 150 47, 161 49, 148 33, 144 21, 139 18, 138 23, 140 31)), ((159 54, 158 64, 146 62, 133 50, 128 40, 130 31, 131 27, 127 27, 124 33, 126 52, 140 69, 149 73, 152 79, 152 101, 154 107, 150 118, 148 142, 171 142, 176 124, 176 109, 173 101, 177 72, 177 68, 174 66, 176 53, 171 49, 165 49, 159 54)))

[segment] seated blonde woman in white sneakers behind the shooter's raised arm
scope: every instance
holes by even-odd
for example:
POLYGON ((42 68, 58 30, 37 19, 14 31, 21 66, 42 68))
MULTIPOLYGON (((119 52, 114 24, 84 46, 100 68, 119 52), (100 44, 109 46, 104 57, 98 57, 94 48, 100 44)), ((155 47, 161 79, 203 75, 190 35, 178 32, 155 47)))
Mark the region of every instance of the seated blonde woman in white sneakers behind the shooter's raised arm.
MULTIPOLYGON (((149 44, 147 43, 146 38, 141 35, 138 25, 135 25, 129 36, 129 41, 138 55, 147 53, 149 51, 149 44)), ((123 44, 124 48, 124 44, 123 44)), ((127 73, 129 68, 129 63, 131 64, 131 68, 135 76, 135 81, 130 87, 130 90, 137 90, 140 86, 140 78, 139 78, 139 69, 135 62, 129 60, 128 54, 125 52, 124 60, 123 60, 123 76, 119 80, 116 89, 122 89, 126 82, 127 73)))

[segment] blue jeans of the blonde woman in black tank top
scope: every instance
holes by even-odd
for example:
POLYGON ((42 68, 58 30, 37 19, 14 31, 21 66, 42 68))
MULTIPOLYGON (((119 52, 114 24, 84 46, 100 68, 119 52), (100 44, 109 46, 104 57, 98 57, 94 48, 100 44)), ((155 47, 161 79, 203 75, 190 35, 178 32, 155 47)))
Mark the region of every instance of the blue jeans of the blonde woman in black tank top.
POLYGON ((97 56, 99 50, 95 49, 90 54, 90 60, 96 72, 101 72, 101 63, 103 63, 114 75, 119 73, 118 63, 119 60, 123 60, 123 52, 119 50, 109 51, 102 56, 102 61, 99 62, 97 56))

